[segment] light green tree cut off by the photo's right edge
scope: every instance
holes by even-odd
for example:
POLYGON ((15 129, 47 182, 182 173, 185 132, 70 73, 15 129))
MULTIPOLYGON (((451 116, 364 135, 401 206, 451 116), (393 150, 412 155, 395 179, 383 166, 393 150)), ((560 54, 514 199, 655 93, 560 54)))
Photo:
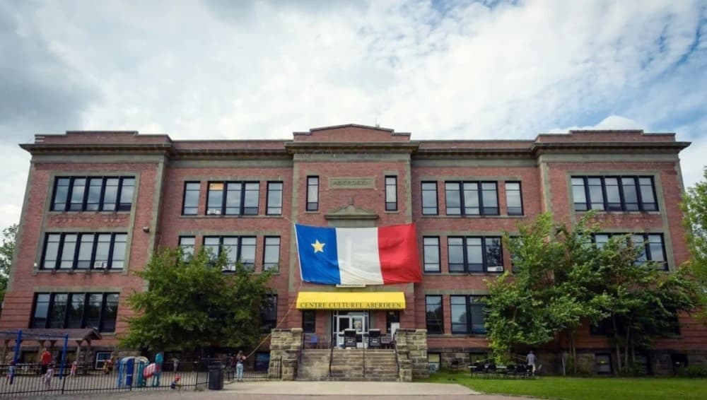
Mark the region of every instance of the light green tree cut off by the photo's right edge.
POLYGON ((707 169, 704 177, 684 194, 682 211, 691 254, 687 267, 702 288, 701 317, 707 318, 707 169))

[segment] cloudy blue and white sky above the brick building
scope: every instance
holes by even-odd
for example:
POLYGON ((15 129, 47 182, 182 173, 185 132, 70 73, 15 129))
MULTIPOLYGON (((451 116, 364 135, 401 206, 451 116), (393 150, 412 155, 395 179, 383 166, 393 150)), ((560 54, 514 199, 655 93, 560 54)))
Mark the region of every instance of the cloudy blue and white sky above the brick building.
POLYGON ((34 134, 677 132, 707 164, 707 1, 0 1, 0 227, 34 134))

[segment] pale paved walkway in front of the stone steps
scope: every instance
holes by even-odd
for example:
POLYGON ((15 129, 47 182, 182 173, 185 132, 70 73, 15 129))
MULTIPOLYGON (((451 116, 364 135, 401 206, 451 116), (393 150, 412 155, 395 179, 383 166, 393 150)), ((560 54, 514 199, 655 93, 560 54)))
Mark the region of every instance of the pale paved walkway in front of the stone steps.
MULTIPOLYGON (((407 382, 238 382, 226 384, 221 391, 195 392, 193 389, 157 390, 145 392, 117 392, 74 394, 71 396, 31 396, 25 399, 88 400, 134 399, 134 400, 518 400, 518 396, 479 394, 460 384, 407 383, 407 382), (316 397, 316 399, 312 399, 316 397)), ((527 399, 527 398, 525 398, 527 399)))

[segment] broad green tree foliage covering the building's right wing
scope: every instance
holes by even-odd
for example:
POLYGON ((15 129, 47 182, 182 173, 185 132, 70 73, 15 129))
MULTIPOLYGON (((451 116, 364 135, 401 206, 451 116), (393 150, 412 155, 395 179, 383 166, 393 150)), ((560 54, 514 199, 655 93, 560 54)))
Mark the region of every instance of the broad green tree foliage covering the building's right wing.
POLYGON ((639 262, 643 243, 612 237, 597 246, 599 226, 586 213, 572 229, 549 214, 504 240, 513 254, 513 277, 489 282, 486 329, 504 358, 515 345, 566 339, 576 365, 575 332, 584 322, 609 322, 617 370, 636 351, 675 329, 676 314, 694 310, 699 290, 686 271, 665 273, 639 262), (622 362, 623 360, 623 362, 622 362))

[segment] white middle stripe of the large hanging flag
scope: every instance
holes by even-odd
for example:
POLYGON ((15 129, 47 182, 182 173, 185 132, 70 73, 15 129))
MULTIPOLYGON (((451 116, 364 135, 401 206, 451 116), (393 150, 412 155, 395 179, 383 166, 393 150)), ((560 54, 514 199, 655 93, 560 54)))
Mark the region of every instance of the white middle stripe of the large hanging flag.
POLYGON ((383 284, 378 228, 337 228, 337 253, 341 284, 383 284))

